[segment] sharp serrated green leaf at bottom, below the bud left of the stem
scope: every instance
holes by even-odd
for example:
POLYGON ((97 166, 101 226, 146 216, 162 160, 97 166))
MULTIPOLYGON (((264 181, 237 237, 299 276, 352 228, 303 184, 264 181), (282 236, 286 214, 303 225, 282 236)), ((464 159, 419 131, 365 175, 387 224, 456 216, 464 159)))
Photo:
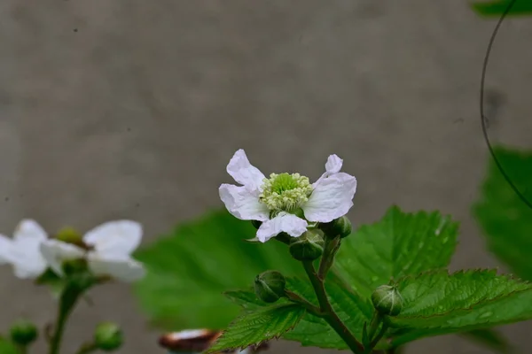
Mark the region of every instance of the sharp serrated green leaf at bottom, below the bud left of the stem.
POLYGON ((281 304, 245 312, 223 331, 223 335, 207 350, 236 350, 278 338, 298 324, 305 309, 299 304, 281 304))

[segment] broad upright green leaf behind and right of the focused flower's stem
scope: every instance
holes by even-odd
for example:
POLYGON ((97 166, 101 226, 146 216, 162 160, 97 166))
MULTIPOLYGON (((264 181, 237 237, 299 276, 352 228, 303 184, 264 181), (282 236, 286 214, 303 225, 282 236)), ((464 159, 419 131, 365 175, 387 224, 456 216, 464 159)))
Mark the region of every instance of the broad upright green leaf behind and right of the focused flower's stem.
POLYGON ((450 217, 394 206, 379 222, 342 240, 334 267, 357 294, 370 298, 392 278, 448 266, 457 236, 458 222, 450 217))

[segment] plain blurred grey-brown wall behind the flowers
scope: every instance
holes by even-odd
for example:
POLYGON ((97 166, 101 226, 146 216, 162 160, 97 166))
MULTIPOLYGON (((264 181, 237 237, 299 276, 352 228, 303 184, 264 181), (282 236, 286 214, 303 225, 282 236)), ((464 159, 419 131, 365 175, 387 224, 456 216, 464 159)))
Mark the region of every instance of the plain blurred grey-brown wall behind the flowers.
MULTIPOLYGON (((149 243, 222 205, 239 148, 263 171, 311 179, 337 153, 358 179, 357 224, 390 204, 439 209, 462 221, 454 269, 497 266, 470 216, 488 161, 478 89, 495 23, 465 0, 2 0, 0 232, 27 217, 51 231, 130 218, 149 243)), ((487 79, 490 135, 521 147, 530 37, 530 19, 507 20, 487 79)), ((44 289, 6 266, 0 277, 2 331, 52 318, 44 289)), ((66 353, 99 319, 125 328, 121 353, 162 352, 127 285, 92 298, 66 353)), ((526 351, 531 329, 504 331, 526 351)), ((408 352, 488 351, 445 336, 408 352)))

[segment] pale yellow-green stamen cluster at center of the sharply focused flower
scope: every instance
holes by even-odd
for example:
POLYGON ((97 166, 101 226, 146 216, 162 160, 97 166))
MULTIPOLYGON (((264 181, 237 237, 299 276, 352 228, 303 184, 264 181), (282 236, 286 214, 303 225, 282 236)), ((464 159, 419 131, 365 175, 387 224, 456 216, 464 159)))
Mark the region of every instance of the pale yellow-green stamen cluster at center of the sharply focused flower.
POLYGON ((310 193, 308 177, 299 173, 271 173, 269 179, 264 179, 259 198, 270 211, 293 212, 309 200, 310 193))

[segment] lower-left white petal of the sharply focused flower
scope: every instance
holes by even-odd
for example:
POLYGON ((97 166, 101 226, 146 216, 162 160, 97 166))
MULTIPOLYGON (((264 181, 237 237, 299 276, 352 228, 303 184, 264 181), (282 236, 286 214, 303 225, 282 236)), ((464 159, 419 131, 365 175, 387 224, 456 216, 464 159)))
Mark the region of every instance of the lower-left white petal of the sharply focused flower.
POLYGON ((246 187, 224 183, 218 191, 223 204, 236 218, 259 221, 269 219, 268 208, 259 202, 258 190, 251 192, 246 187))

